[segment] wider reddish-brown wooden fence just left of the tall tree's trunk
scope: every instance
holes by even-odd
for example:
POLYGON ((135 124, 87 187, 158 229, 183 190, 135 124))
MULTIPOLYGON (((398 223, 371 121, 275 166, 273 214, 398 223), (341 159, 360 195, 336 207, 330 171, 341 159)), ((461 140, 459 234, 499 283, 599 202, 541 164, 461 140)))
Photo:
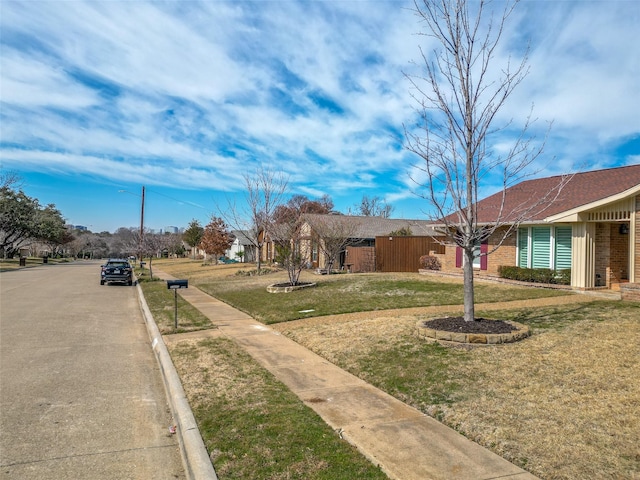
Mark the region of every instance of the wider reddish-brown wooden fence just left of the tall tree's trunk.
POLYGON ((376 237, 375 248, 378 272, 417 272, 422 255, 444 254, 444 245, 433 237, 376 237))

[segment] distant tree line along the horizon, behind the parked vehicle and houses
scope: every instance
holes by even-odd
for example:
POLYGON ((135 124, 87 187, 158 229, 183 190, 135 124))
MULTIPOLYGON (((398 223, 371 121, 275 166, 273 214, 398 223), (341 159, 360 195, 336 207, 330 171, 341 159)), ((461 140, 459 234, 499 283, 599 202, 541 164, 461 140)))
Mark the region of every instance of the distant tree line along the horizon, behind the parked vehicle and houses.
MULTIPOLYGON (((293 195, 285 201, 287 181, 281 174, 259 170, 245 176, 247 205, 244 210, 235 206, 220 216, 212 216, 206 226, 191 220, 182 234, 140 232, 136 227, 120 227, 114 233, 94 233, 89 230, 70 230, 55 205, 40 205, 26 195, 20 177, 14 173, 0 175, 0 255, 13 258, 20 252, 30 256, 108 258, 154 258, 182 256, 196 248, 219 258, 234 241, 231 228, 249 233, 254 247, 260 250, 269 232, 276 240, 279 261, 290 270, 296 280, 303 268, 300 252, 290 240, 298 235, 301 215, 307 213, 335 214, 328 195, 309 199, 293 195)), ((363 196, 354 205, 356 214, 388 217, 393 210, 379 197, 363 196)), ((349 208, 351 213, 351 208, 349 208)), ((328 236, 340 236, 327 234, 328 236)), ((344 235, 342 235, 344 236, 344 235)), ((343 248, 343 247, 341 247, 343 248)), ((332 255, 334 253, 332 252, 332 255)), ((329 255, 329 254, 328 254, 329 255)), ((259 258, 259 257, 258 257, 259 258)), ((259 268, 259 267, 258 267, 259 268)))

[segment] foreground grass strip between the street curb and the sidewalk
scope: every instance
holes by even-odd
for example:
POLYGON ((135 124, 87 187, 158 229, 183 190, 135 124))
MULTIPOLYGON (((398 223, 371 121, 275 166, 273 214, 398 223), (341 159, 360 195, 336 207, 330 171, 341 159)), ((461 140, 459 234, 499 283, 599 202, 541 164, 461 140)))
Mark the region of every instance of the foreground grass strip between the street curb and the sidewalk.
POLYGON ((232 341, 170 351, 221 480, 387 478, 232 341))

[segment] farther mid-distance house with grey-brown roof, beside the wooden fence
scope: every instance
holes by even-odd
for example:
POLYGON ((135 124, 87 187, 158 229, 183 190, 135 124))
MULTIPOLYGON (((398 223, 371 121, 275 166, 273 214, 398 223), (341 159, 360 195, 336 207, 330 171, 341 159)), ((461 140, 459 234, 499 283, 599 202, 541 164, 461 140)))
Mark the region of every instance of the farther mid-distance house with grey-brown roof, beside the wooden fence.
MULTIPOLYGON (((373 271, 376 237, 388 237, 392 232, 401 230, 409 230, 414 236, 435 235, 426 220, 308 213, 302 215, 300 250, 307 256, 310 268, 322 270, 328 267, 328 243, 342 243, 332 266, 334 270, 373 271)), ((421 252, 421 255, 426 253, 421 252)), ((416 259, 413 271, 418 268, 416 259)))

